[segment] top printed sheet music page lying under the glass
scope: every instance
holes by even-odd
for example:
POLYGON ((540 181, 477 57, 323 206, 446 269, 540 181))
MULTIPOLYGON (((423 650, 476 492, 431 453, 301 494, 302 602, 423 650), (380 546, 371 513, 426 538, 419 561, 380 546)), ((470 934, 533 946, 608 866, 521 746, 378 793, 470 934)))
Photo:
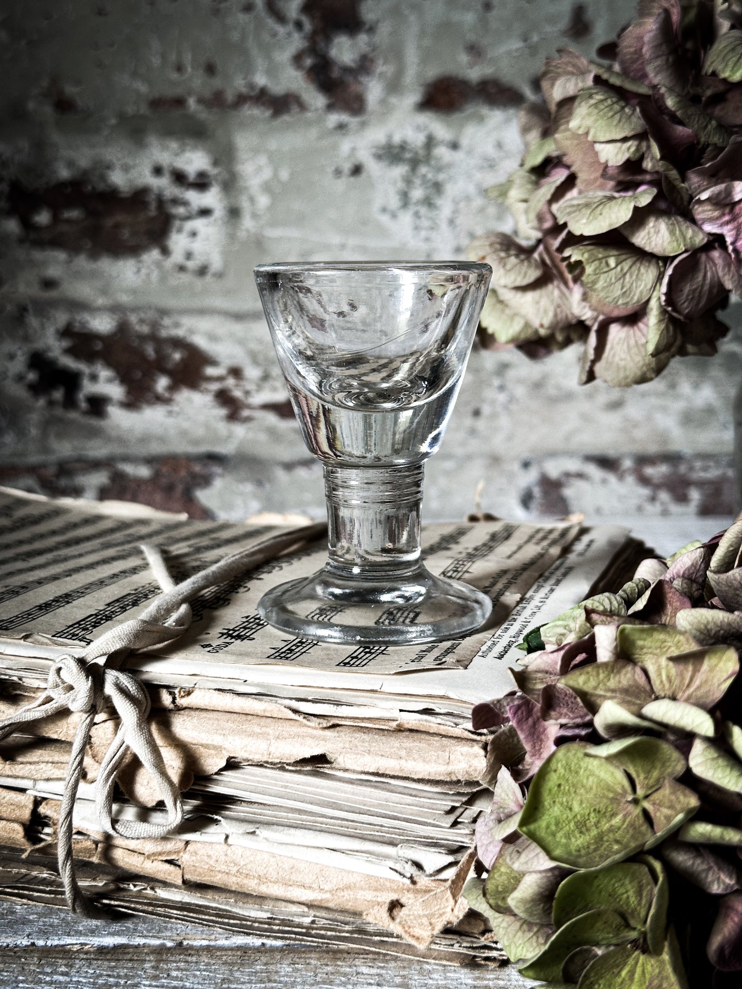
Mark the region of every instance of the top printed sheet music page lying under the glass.
MULTIPOLYGON (((309 576, 326 558, 324 541, 268 561, 192 602, 193 623, 159 657, 199 660, 214 675, 231 665, 301 667, 337 673, 397 674, 466 667, 525 592, 578 535, 570 522, 462 522, 423 527, 426 566, 465 581, 494 603, 487 630, 423 646, 334 646, 291 638, 266 625, 256 605, 266 590, 309 576)), ((37 634, 84 646, 114 624, 134 618, 159 591, 139 550, 166 552, 184 580, 275 526, 108 516, 43 499, 0 493, 0 637, 37 634)), ((331 615, 328 615, 331 618, 331 615)), ((391 607, 390 622, 414 622, 414 607, 391 607)))

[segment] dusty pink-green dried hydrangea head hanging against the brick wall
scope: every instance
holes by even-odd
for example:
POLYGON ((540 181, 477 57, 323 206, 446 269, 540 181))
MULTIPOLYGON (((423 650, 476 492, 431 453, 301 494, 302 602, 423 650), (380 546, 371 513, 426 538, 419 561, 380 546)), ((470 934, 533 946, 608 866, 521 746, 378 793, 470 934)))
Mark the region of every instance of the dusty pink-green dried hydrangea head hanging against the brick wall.
POLYGON ((612 64, 546 60, 520 167, 488 190, 519 239, 467 251, 494 272, 485 346, 584 342, 581 383, 616 387, 716 352, 742 298, 742 3, 715 6, 640 0, 612 64))

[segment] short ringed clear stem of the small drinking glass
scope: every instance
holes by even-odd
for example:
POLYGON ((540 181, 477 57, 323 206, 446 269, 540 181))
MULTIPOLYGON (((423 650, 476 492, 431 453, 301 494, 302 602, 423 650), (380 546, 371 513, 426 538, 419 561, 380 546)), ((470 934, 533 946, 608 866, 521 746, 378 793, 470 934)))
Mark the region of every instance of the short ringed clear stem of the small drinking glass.
POLYGON ((417 570, 422 475, 422 464, 325 464, 330 570, 371 580, 417 570))

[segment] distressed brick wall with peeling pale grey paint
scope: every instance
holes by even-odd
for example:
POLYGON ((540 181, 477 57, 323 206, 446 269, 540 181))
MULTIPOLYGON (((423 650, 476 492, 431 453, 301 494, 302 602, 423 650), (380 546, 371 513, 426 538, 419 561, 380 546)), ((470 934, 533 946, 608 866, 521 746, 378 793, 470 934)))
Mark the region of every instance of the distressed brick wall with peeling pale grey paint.
MULTIPOLYGON (((196 517, 324 510, 251 278, 445 258, 559 45, 631 0, 5 0, 0 483, 196 517)), ((739 317, 732 314, 733 321, 739 317)), ((733 509, 740 337, 630 392, 477 349, 428 518, 733 509)))

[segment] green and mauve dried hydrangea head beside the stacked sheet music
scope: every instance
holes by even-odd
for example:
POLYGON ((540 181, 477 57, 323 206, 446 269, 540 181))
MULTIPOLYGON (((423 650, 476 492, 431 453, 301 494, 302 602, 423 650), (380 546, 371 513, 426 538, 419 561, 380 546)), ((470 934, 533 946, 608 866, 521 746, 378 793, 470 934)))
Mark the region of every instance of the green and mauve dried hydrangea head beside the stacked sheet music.
POLYGON ((549 984, 737 985, 742 517, 523 645, 476 713, 498 769, 471 906, 549 984))

